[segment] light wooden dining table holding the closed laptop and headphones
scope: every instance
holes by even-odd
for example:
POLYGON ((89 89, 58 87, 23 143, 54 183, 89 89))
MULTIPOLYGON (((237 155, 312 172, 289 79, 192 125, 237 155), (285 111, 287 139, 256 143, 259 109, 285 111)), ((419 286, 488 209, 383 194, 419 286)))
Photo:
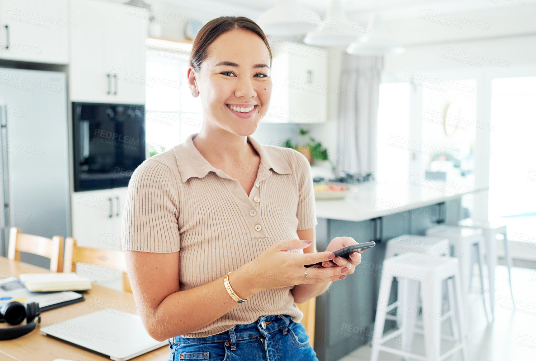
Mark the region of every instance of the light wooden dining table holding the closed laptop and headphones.
MULTIPOLYGON (((51 272, 46 268, 34 266, 20 261, 9 260, 0 256, 0 279, 18 276, 20 273, 51 272)), ((86 298, 82 302, 62 306, 41 313, 41 324, 32 332, 13 340, 0 341, 0 360, 18 361, 53 361, 56 358, 73 361, 103 361, 108 357, 86 350, 76 345, 41 335, 40 327, 83 316, 84 314, 102 309, 114 309, 120 312, 137 313, 134 296, 131 293, 92 285, 90 290, 83 291, 86 298)), ((26 320, 21 325, 26 324, 26 320)), ((16 327, 3 322, 0 327, 16 327)), ((169 345, 166 344, 144 355, 132 358, 135 361, 167 361, 170 356, 169 345)))

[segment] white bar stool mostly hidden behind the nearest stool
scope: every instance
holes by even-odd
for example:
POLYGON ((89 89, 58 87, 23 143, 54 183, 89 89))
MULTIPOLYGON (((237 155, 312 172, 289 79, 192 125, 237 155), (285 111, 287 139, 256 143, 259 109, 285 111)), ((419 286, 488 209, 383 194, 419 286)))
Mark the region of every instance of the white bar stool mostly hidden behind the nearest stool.
MULTIPOLYGON (((407 252, 427 255, 430 257, 448 256, 450 255, 449 240, 444 237, 404 234, 387 241, 385 258, 398 256, 407 252)), ((446 285, 446 282, 444 283, 446 285)), ((397 308, 396 316, 387 314, 386 319, 396 320, 397 326, 400 327, 401 317, 404 312, 407 312, 404 308, 416 306, 417 309, 419 309, 421 306, 420 298, 416 297, 416 295, 419 294, 418 286, 419 283, 417 282, 398 282, 397 299, 403 302, 401 302, 401 305, 397 308)), ((443 298, 445 298, 447 296, 446 287, 443 291, 443 298)))

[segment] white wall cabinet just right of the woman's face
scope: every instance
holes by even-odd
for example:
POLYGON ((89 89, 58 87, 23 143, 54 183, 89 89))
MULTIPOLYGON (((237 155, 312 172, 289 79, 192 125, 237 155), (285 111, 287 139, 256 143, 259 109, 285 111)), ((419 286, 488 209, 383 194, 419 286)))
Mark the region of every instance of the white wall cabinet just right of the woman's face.
POLYGON ((329 52, 286 42, 272 45, 272 95, 264 122, 318 124, 326 121, 329 52))

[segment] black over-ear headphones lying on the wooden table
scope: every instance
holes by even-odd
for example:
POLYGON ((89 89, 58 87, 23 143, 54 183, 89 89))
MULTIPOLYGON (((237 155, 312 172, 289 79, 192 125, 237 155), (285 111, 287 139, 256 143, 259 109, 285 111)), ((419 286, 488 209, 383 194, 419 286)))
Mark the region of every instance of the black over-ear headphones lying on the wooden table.
POLYGON ((0 340, 12 340, 33 331, 37 323, 41 323, 41 309, 39 303, 30 302, 24 305, 17 301, 6 303, 0 308, 0 322, 8 322, 10 325, 18 325, 26 318, 26 325, 19 327, 0 328, 0 340))

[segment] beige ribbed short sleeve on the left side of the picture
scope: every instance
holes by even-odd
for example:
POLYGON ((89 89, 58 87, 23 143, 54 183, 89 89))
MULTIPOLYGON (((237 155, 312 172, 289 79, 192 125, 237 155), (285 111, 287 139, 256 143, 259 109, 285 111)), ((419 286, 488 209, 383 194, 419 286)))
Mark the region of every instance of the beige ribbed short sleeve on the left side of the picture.
POLYGON ((177 181, 168 166, 147 159, 132 173, 121 222, 123 251, 180 250, 177 181))

